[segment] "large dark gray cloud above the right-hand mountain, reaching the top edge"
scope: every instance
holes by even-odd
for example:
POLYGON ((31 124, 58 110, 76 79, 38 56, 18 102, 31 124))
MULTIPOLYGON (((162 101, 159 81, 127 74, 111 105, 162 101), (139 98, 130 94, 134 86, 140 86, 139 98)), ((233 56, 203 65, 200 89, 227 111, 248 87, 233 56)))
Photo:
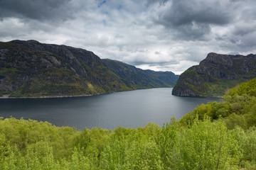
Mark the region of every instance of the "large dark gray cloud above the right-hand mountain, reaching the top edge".
POLYGON ((211 26, 225 26, 233 22, 233 10, 237 6, 228 0, 169 0, 151 17, 154 22, 171 30, 176 38, 204 40, 211 33, 211 26))

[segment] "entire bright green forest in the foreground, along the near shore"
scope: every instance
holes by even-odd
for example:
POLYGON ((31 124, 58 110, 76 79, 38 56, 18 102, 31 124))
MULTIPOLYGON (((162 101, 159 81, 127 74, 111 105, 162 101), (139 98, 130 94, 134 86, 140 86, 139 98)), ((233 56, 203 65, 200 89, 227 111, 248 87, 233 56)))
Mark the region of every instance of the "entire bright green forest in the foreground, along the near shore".
MULTIPOLYGON (((166 120, 167 122, 167 120, 166 120)), ((0 120, 0 169, 255 169, 256 79, 159 127, 0 120)))

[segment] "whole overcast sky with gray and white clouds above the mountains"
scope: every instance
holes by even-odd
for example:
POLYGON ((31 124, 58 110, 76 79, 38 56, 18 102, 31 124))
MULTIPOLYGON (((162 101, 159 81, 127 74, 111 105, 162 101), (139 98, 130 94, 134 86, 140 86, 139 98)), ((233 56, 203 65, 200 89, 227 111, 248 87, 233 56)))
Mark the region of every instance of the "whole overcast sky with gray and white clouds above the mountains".
POLYGON ((0 41, 80 47, 181 74, 209 52, 256 53, 256 0, 0 0, 0 41))

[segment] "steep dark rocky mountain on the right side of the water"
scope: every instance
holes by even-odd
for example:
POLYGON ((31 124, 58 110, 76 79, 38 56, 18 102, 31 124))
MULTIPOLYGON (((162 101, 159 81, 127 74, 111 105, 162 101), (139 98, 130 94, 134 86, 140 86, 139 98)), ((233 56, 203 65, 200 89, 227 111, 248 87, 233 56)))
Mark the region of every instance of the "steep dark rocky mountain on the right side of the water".
POLYGON ((256 77, 256 55, 209 53, 199 65, 178 78, 172 91, 176 96, 223 96, 225 91, 256 77))

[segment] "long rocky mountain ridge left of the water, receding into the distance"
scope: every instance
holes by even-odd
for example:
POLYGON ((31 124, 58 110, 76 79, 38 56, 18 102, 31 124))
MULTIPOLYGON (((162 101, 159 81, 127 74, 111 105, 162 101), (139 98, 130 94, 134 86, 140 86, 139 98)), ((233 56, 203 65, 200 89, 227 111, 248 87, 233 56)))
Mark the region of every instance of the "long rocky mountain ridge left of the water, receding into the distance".
POLYGON ((101 60, 80 48, 36 40, 0 42, 0 96, 82 96, 176 84, 172 72, 164 76, 168 79, 154 71, 101 60))

